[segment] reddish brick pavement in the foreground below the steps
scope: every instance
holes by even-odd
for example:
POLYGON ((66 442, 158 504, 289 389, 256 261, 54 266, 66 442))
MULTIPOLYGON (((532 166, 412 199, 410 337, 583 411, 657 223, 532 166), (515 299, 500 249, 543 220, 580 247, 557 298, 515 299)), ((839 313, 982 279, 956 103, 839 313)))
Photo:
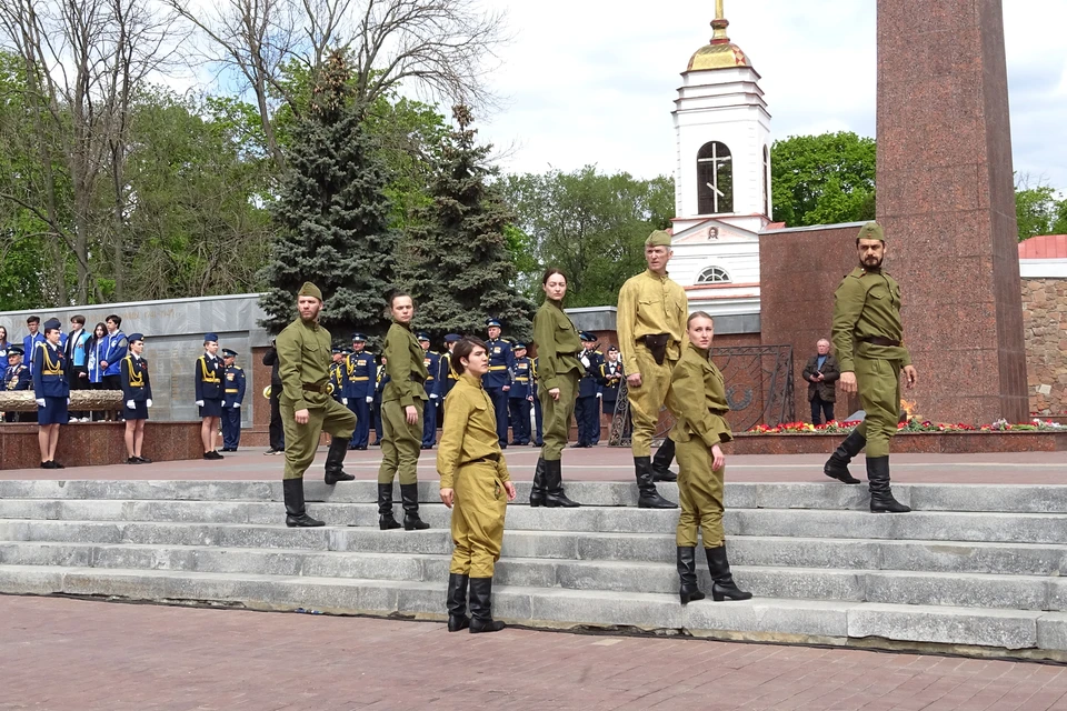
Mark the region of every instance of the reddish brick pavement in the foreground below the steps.
POLYGON ((0 597, 0 710, 1067 709, 1067 668, 0 597))

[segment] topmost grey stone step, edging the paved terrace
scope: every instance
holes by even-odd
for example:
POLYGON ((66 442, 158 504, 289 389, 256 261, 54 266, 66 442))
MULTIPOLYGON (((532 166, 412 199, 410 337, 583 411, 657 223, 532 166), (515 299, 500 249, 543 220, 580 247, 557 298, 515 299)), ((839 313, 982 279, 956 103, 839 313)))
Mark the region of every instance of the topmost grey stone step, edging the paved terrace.
MULTIPOLYGON (((812 473, 812 480, 821 477, 812 473)), ((529 500, 529 482, 517 482, 518 504, 529 500)), ((677 501, 675 484, 657 484, 677 501)), ((1030 484, 894 484, 895 495, 919 511, 1067 513, 1067 485, 1030 484)), ((399 491, 395 493, 397 498, 399 491)), ((630 481, 576 481, 567 494, 586 505, 635 507, 637 489, 630 481)), ((308 501, 370 503, 377 500, 373 481, 327 487, 309 479, 308 501)), ((0 481, 0 499, 153 499, 200 501, 281 501, 280 481, 0 481)), ((419 483, 419 499, 438 502, 438 483, 419 483)), ((867 510, 866 485, 839 483, 727 482, 727 509, 849 509, 867 510)))

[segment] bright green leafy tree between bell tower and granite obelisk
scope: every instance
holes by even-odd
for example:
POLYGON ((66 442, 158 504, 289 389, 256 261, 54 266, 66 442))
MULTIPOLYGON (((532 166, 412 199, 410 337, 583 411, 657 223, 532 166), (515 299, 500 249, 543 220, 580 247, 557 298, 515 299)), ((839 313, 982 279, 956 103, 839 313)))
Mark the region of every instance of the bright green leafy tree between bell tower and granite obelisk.
POLYGON ((792 136, 770 153, 776 220, 807 227, 875 219, 875 139, 792 136))

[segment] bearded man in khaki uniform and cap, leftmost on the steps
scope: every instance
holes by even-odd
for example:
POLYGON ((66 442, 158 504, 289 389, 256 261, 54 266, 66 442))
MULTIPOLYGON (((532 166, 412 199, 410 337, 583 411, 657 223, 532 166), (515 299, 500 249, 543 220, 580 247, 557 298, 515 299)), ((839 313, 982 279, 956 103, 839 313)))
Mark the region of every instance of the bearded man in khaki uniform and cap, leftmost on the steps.
POLYGON ((330 437, 326 458, 326 483, 351 481, 342 464, 348 438, 356 429, 356 415, 327 394, 330 384, 330 333, 319 326, 322 292, 310 281, 297 297, 299 318, 275 340, 281 397, 278 402, 286 431, 286 469, 282 490, 286 497, 286 525, 322 525, 308 515, 303 502, 303 472, 311 465, 319 435, 330 437))

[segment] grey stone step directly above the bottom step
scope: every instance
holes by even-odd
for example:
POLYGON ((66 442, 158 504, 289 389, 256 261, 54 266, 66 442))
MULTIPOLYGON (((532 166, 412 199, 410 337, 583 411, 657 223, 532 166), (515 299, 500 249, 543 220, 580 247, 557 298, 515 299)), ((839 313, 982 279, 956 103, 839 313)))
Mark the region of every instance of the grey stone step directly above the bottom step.
MULTIPOLYGON (((702 551, 697 560, 701 589, 711 588, 702 551)), ((358 578, 435 582, 448 578, 449 555, 352 553, 259 548, 205 548, 97 543, 0 543, 0 564, 101 569, 255 573, 311 578, 358 578)), ((842 600, 893 604, 1064 610, 1067 580, 1040 575, 995 575, 897 570, 734 565, 738 584, 761 598, 842 600)), ((527 588, 564 588, 634 593, 678 591, 672 562, 581 561, 507 558, 496 582, 527 588)))

